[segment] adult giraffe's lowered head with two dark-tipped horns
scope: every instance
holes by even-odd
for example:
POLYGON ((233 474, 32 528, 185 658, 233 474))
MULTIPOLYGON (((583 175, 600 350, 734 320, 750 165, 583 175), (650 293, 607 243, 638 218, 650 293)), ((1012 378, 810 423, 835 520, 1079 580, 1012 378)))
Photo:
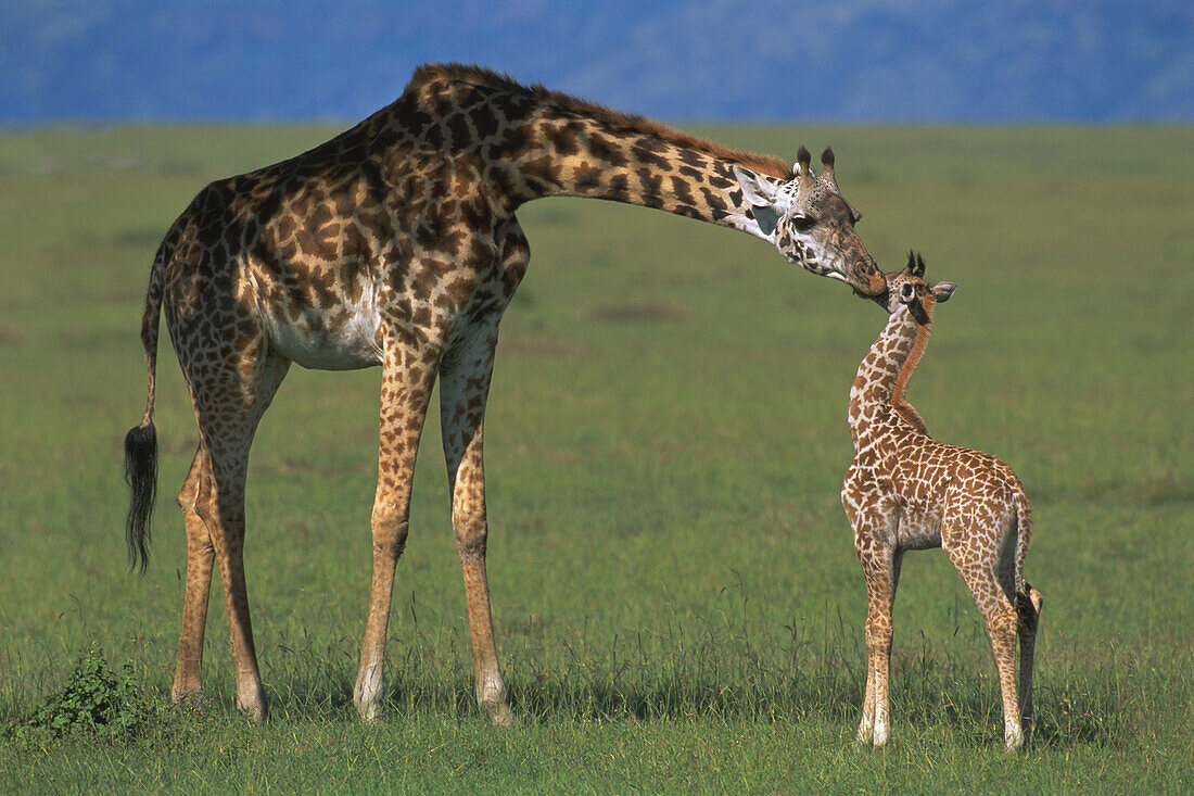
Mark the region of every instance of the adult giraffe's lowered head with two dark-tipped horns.
POLYGON ((775 244, 789 263, 841 280, 858 295, 881 296, 886 290, 884 275, 854 231, 861 216, 837 188, 833 151, 821 154, 820 177, 810 169, 811 160, 808 149, 800 147, 787 180, 734 166, 759 237, 775 244))

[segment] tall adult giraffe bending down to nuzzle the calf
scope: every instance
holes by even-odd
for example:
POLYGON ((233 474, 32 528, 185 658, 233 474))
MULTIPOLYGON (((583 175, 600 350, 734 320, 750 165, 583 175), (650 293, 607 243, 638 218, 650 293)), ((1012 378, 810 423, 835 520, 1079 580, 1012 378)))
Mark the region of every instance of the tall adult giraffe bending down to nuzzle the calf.
POLYGON ((833 155, 794 172, 650 120, 460 65, 416 69, 393 104, 301 155, 211 183, 166 233, 149 274, 141 338, 144 417, 125 439, 130 559, 144 570, 156 488, 153 425, 162 306, 199 427, 178 495, 186 594, 173 698, 198 692, 214 559, 236 671, 236 706, 266 703, 241 550, 245 474, 261 414, 291 362, 380 365, 381 442, 373 587, 353 700, 378 717, 394 569, 411 479, 439 378, 453 531, 464 575, 481 708, 512 714, 498 667, 485 571, 481 421, 498 322, 530 256, 515 210, 541 196, 653 207, 741 229, 789 262, 876 295, 884 278, 854 231, 833 155))

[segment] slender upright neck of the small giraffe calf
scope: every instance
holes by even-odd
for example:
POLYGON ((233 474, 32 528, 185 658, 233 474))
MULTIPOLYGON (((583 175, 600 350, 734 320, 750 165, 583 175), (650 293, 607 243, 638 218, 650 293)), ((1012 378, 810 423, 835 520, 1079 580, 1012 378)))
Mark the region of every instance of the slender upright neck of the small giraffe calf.
MULTIPOLYGON (((924 302, 924 311, 931 319, 931 299, 924 302)), ((931 320, 918 324, 903 306, 887 319, 882 333, 858 366, 850 387, 850 435, 856 447, 858 440, 892 411, 916 430, 928 433, 924 421, 904 399, 904 394, 924 355, 931 327, 931 320)))

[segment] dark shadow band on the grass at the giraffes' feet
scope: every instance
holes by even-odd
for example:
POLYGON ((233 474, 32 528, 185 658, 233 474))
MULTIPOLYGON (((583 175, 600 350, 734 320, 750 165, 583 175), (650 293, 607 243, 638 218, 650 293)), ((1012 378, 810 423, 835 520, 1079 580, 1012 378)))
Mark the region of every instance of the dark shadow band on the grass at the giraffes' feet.
MULTIPOLYGON (((345 654, 324 657, 291 651, 295 656, 270 678, 270 697, 279 715, 327 720, 351 715, 353 682, 350 667, 343 665, 345 654)), ((535 667, 519 666, 510 672, 507 697, 519 723, 715 718, 759 723, 823 721, 851 730, 861 709, 863 681, 858 667, 845 666, 836 655, 808 668, 747 675, 726 672, 724 666, 669 668, 673 663, 639 661, 633 672, 598 662, 540 673, 534 673, 535 667)), ((944 733, 967 748, 991 747, 1002 721, 992 698, 998 692, 993 672, 975 673, 972 661, 924 655, 910 655, 897 663, 892 700, 905 739, 944 733)), ((1125 706, 1109 682, 1100 674, 1081 680, 1046 674, 1039 686, 1033 746, 1119 742, 1127 731, 1125 706)), ((463 660, 456 665, 423 660, 421 665, 406 667, 382 700, 392 724, 416 715, 484 720, 463 660)))

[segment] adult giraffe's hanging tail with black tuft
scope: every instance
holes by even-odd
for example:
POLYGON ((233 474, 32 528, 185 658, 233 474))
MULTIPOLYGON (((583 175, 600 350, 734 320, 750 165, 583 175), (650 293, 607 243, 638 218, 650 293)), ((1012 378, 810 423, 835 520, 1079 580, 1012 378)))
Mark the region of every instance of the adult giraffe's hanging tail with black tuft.
POLYGON ((158 496, 158 429, 153 424, 154 375, 158 369, 158 325, 161 319, 165 281, 164 250, 159 249, 149 273, 146 308, 141 318, 141 344, 149 371, 148 398, 141 422, 124 437, 124 480, 129 484, 129 516, 124 539, 129 546, 129 567, 142 574, 149 564, 149 518, 158 496))

